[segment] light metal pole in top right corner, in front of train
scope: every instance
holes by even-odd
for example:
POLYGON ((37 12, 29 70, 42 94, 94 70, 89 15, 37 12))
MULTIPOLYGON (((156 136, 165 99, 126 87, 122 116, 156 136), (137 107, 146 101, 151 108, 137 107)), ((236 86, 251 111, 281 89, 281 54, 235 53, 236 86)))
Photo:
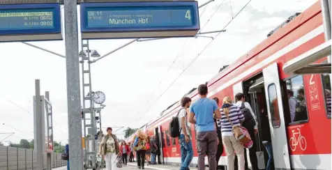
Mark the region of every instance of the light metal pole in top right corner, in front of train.
MULTIPOLYGON (((329 8, 329 0, 321 0, 321 4, 322 4, 322 15, 323 15, 323 24, 324 24, 324 36, 325 36, 325 41, 328 41, 331 40, 331 14, 330 14, 331 9, 329 8)), ((331 63, 331 55, 327 56, 327 61, 328 63, 331 63)), ((331 74, 330 74, 330 79, 331 79, 331 74)))

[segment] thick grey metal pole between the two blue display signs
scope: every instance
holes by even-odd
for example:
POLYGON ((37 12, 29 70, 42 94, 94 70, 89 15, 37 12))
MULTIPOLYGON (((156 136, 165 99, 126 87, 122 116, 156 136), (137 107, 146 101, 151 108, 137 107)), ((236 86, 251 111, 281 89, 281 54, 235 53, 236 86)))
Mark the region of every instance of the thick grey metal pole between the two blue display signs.
POLYGON ((78 59, 77 1, 64 3, 66 73, 68 103, 68 139, 70 170, 82 170, 82 121, 80 100, 80 68, 78 59))

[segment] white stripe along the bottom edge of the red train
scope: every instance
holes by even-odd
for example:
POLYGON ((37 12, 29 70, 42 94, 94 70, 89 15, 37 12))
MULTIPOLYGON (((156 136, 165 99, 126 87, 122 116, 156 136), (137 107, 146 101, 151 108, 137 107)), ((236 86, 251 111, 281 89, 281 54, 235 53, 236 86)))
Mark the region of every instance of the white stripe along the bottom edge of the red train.
MULTIPOLYGON (((291 155, 293 169, 331 169, 331 155, 291 155)), ((274 159, 278 159, 275 157, 274 159)), ((181 163, 180 157, 165 157, 167 163, 181 163)), ((197 164, 198 157, 193 157, 193 164, 197 164)), ((208 164, 205 157, 205 164, 208 164)), ((227 165, 227 157, 220 157, 219 165, 227 165)), ((250 162, 249 162, 250 167, 250 162)))

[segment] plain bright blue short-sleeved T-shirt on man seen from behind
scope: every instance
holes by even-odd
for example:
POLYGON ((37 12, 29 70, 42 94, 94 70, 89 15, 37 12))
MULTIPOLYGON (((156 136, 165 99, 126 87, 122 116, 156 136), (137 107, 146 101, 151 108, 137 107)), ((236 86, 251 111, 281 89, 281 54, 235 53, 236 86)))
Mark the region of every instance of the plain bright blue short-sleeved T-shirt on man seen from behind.
POLYGON ((209 98, 199 98, 190 106, 190 112, 196 117, 197 132, 216 130, 213 121, 213 112, 218 110, 216 101, 209 98))

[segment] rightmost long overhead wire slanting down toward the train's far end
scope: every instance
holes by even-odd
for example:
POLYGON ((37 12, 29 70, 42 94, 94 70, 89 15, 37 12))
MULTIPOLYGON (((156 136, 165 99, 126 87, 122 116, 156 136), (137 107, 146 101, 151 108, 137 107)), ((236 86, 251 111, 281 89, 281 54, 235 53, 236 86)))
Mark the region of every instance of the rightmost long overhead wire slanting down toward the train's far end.
MULTIPOLYGON (((250 1, 252 1, 252 0, 249 0, 248 1, 248 3, 246 3, 246 5, 245 6, 243 6, 243 8, 241 8, 241 10, 239 10, 239 12, 238 13, 236 13, 236 15, 234 15, 234 17, 233 17, 233 15, 232 15, 232 20, 229 20, 229 22, 222 28, 222 30, 223 29, 225 29, 238 15, 239 15, 239 13, 241 13, 242 12, 242 10, 244 9, 244 8, 246 8, 246 6, 248 6, 248 4, 250 3, 250 1)), ((231 6, 232 6, 232 4, 231 4, 231 6)), ((187 65, 187 67, 180 73, 180 75, 178 76, 178 77, 176 77, 176 79, 174 79, 174 81, 172 82, 172 84, 170 84, 167 88, 166 88, 166 90, 161 94, 161 95, 159 95, 159 97, 157 98, 157 100, 155 101, 155 102, 153 102, 153 104, 148 108, 148 109, 146 109, 146 111, 145 112, 147 112, 147 111, 149 111, 149 109, 151 109, 151 107, 153 107, 153 105, 155 105, 156 104, 156 102, 158 102, 158 100, 168 91, 168 89, 176 82, 176 80, 177 79, 179 79, 179 77, 181 77, 181 75, 183 74, 183 72, 185 72, 189 67, 190 67, 190 65, 191 64, 193 64, 194 63, 194 61, 205 51, 205 49, 207 48, 207 47, 209 47, 209 45, 211 45, 211 42, 213 42, 215 39, 216 39, 216 37, 218 37, 219 35, 220 35, 220 33, 221 32, 219 32, 214 38, 213 38, 213 40, 211 40, 203 49, 202 49, 202 51, 201 52, 199 52, 199 54, 193 59, 193 61, 191 61, 190 63, 189 63, 189 65, 187 65)), ((140 117, 141 118, 141 117, 140 117)), ((139 119, 140 119, 139 118, 139 119)), ((137 121, 139 120, 139 119, 137 119, 137 121)))

